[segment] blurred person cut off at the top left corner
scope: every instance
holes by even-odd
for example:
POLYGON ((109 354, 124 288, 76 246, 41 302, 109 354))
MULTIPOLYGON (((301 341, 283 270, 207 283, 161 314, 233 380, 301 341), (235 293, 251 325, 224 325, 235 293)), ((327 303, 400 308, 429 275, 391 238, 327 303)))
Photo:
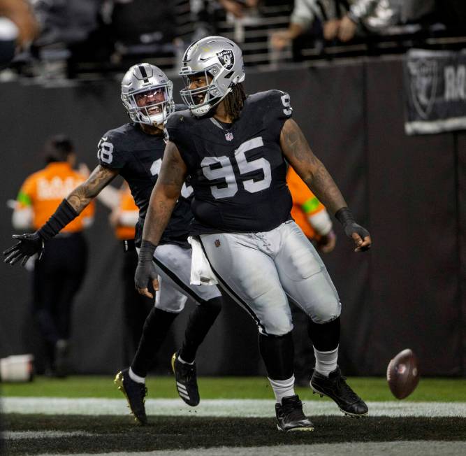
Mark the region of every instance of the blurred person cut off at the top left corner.
POLYGON ((0 69, 38 36, 39 26, 27 0, 0 0, 0 69))

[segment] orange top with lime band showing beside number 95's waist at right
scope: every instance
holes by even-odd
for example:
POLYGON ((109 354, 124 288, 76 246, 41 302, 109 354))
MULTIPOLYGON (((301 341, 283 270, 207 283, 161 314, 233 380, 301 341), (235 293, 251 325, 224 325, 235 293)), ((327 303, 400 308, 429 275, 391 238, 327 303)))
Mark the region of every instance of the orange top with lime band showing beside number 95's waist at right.
POLYGON ((298 174, 296 174, 292 166, 288 167, 286 183, 288 184, 291 197, 293 198, 291 217, 293 217, 308 238, 315 238, 318 234, 316 234, 316 231, 312 228, 308 217, 325 211, 325 206, 323 206, 314 193, 309 190, 309 187, 307 187, 298 174))

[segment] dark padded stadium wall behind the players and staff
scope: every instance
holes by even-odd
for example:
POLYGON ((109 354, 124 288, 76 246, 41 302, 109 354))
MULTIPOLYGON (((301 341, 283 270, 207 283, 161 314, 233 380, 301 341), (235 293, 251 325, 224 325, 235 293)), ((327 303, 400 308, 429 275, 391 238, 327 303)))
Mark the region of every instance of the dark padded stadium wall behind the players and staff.
MULTIPOLYGON (((175 94, 180 85, 175 80, 175 94)), ((391 357, 409 347, 424 375, 465 376, 466 134, 405 135, 398 57, 249 71, 245 87, 249 93, 277 88, 291 94, 295 120, 373 236, 372 251, 356 254, 337 226, 337 248, 324 257, 343 304, 344 371, 384 374, 391 357)), ((0 92, 0 240, 6 248, 13 232, 6 200, 43 166, 38 151, 45 138, 68 134, 92 169, 100 137, 126 116, 117 80, 49 88, 3 83, 0 92)), ((73 311, 73 364, 80 373, 114 373, 124 363, 123 253, 103 206, 87 238, 87 277, 73 311)), ((30 282, 24 269, 1 266, 0 357, 35 352, 40 364, 30 282)), ((170 369, 168 358, 186 320, 184 312, 175 322, 173 339, 159 357, 161 373, 170 369)), ((265 372, 254 322, 235 304, 228 302, 207 336, 198 370, 265 372)))

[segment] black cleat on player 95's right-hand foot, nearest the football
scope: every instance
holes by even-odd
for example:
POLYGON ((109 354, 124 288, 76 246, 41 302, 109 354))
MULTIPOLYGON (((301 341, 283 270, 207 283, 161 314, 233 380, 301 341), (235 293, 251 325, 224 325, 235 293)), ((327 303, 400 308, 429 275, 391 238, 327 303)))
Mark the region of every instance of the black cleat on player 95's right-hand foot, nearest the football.
POLYGON ((367 415, 367 405, 346 382, 347 378, 342 376, 340 367, 330 372, 328 378, 314 370, 311 378, 311 388, 322 396, 333 399, 340 410, 350 416, 359 418, 367 415))

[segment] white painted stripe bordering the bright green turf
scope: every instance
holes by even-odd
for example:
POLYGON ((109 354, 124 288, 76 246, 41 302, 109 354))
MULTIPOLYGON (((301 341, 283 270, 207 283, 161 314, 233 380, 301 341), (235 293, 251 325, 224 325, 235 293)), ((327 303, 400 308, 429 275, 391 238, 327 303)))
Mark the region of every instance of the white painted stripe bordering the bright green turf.
MULTIPOLYGON (((3 397, 3 413, 42 413, 44 415, 125 415, 125 399, 67 399, 58 397, 3 397)), ((466 402, 367 402, 369 416, 450 416, 466 418, 466 402)), ((275 417, 275 401, 270 399, 204 399, 192 408, 181 399, 146 399, 147 415, 275 417)), ((342 416, 330 400, 305 402, 304 411, 317 415, 342 416)))

